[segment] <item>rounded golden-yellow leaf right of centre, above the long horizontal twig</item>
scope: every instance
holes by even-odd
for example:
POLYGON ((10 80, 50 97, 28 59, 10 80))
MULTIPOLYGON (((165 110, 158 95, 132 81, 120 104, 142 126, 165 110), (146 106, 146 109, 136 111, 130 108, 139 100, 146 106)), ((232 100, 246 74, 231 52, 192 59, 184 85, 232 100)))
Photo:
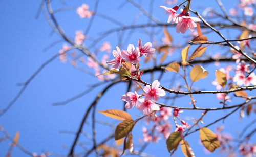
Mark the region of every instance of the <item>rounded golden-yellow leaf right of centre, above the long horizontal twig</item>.
POLYGON ((200 65, 195 65, 190 71, 190 78, 193 82, 206 78, 209 73, 200 65))

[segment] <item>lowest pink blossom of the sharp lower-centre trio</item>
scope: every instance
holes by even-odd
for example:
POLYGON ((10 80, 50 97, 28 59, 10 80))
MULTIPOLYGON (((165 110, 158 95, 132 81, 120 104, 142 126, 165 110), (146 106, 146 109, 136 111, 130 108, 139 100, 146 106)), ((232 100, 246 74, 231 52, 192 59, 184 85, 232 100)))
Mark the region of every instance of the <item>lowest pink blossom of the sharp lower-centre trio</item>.
POLYGON ((153 110, 160 110, 159 106, 151 100, 141 98, 140 102, 141 103, 138 104, 137 108, 140 111, 143 111, 144 115, 150 114, 153 110))

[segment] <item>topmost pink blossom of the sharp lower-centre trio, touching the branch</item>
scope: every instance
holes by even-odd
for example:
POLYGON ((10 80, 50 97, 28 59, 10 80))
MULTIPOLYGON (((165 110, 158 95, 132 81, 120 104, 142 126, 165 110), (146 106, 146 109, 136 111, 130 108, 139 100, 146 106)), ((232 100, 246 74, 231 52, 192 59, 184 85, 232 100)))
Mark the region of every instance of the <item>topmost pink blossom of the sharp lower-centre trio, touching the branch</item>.
POLYGON ((151 98, 154 101, 157 101, 160 97, 165 96, 165 91, 159 88, 160 82, 155 80, 152 85, 146 85, 144 87, 145 98, 146 100, 150 100, 151 98))

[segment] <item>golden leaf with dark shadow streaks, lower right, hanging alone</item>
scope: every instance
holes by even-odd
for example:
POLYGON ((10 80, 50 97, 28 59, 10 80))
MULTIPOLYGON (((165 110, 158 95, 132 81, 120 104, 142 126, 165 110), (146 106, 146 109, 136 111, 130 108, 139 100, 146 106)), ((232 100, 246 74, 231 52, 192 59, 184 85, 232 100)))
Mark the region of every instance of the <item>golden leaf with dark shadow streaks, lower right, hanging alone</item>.
POLYGON ((210 129, 203 127, 200 129, 199 134, 204 147, 210 152, 214 152, 215 149, 220 147, 220 142, 210 129))

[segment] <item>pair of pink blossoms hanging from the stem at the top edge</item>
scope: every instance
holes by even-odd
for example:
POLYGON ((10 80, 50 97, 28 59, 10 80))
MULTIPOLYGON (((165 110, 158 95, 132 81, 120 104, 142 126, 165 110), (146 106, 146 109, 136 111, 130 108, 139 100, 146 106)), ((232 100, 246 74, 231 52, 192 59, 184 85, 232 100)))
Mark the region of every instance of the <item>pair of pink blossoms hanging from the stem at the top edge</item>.
MULTIPOLYGON (((189 1, 190 3, 190 1, 189 1)), ((201 21, 197 17, 191 17, 189 13, 189 3, 187 7, 182 9, 182 12, 180 14, 176 14, 176 11, 179 9, 179 6, 175 6, 173 8, 168 8, 165 6, 160 6, 163 9, 165 9, 166 14, 169 15, 167 23, 170 23, 173 20, 173 23, 176 23, 176 32, 177 33, 185 33, 187 29, 190 29, 194 32, 195 27, 197 27, 196 22, 201 21)))

